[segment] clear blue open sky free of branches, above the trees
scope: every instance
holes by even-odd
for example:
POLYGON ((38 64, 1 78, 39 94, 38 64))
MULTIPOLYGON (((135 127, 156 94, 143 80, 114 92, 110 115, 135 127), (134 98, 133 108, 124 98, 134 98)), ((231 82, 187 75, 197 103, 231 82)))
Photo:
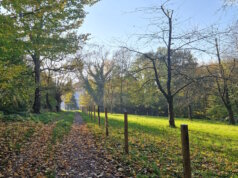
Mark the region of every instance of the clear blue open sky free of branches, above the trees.
MULTIPOLYGON (((236 7, 224 10, 222 4, 223 0, 171 0, 168 7, 185 27, 216 24, 224 28, 234 22, 238 11, 236 7)), ((88 14, 80 32, 91 34, 90 43, 117 46, 118 42, 130 41, 132 34, 146 33, 151 22, 138 9, 160 5, 161 0, 101 0, 86 8, 88 14)))

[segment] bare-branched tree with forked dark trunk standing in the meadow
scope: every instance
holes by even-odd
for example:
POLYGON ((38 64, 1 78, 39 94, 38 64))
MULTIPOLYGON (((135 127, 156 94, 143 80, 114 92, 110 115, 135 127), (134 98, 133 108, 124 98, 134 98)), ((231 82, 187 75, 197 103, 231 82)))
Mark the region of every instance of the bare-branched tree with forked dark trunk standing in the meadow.
POLYGON ((174 19, 174 11, 166 9, 165 4, 166 3, 160 7, 152 7, 148 9, 150 14, 159 14, 159 17, 156 18, 158 19, 158 23, 153 22, 151 25, 156 29, 159 29, 155 32, 140 36, 140 39, 146 39, 146 43, 151 43, 152 41, 156 40, 157 44, 161 45, 159 47, 163 47, 164 52, 157 53, 157 55, 154 56, 128 47, 124 48, 143 55, 151 62, 151 66, 149 66, 149 68, 142 70, 152 69, 154 71, 154 80, 156 82, 157 89, 166 98, 168 104, 169 125, 171 127, 175 127, 174 98, 179 92, 195 82, 195 80, 198 80, 198 78, 193 79, 189 75, 186 75, 178 68, 180 65, 176 66, 178 64, 176 63, 176 60, 179 61, 179 58, 177 58, 176 55, 180 51, 183 53, 186 50, 200 50, 195 44, 196 42, 205 39, 207 35, 201 35, 206 29, 195 29, 191 30, 190 32, 181 33, 181 31, 185 30, 179 29, 177 26, 178 24, 174 23, 176 20, 174 19), (160 66, 162 63, 164 65, 160 66), (162 70, 159 69, 161 67, 162 70), (165 71, 165 73, 161 74, 161 71, 165 71), (183 76, 183 82, 181 82, 179 85, 173 85, 175 76, 183 76))

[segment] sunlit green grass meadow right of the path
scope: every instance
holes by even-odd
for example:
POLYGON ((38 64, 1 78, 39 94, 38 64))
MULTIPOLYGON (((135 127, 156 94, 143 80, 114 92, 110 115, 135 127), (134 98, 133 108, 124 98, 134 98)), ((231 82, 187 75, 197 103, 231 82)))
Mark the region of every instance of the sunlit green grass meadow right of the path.
POLYGON ((101 126, 81 113, 99 144, 137 177, 182 177, 181 124, 188 124, 193 177, 238 177, 238 126, 222 122, 176 119, 177 128, 163 117, 129 115, 129 150, 123 154, 123 115, 109 114, 109 137, 101 126))

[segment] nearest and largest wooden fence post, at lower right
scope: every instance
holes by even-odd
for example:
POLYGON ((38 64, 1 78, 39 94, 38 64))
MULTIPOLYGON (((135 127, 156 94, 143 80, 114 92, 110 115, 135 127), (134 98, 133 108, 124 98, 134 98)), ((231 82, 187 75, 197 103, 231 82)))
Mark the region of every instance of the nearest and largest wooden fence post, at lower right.
POLYGON ((191 178, 192 172, 190 163, 188 125, 181 125, 181 141, 183 154, 183 175, 184 178, 191 178))

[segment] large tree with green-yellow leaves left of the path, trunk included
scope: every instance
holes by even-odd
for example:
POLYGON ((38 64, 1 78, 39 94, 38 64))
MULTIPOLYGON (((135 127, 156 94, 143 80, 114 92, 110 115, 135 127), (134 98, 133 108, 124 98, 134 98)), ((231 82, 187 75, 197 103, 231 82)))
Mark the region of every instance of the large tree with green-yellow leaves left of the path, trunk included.
POLYGON ((78 35, 78 29, 85 17, 84 6, 96 0, 3 0, 1 8, 15 19, 24 38, 25 51, 34 66, 35 98, 34 113, 40 113, 40 74, 45 61, 55 60, 59 54, 73 54, 87 35, 78 35))

